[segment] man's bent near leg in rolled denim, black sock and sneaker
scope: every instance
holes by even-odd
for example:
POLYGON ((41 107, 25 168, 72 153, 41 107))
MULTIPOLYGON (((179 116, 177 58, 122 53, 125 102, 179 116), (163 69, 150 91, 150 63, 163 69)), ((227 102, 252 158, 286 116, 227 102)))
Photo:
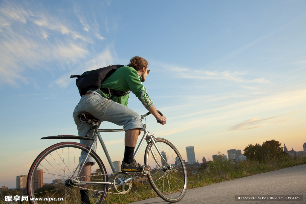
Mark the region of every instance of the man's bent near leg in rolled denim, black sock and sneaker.
POLYGON ((77 115, 83 111, 91 113, 92 116, 101 121, 108 121, 117 125, 123 125, 123 129, 126 131, 125 147, 127 148, 125 151, 126 156, 124 158, 126 161, 128 159, 132 162, 125 163, 123 161, 122 164, 125 163, 125 165, 121 165, 122 171, 139 172, 143 169, 150 169, 150 167, 137 164, 133 160, 134 149, 138 139, 138 129, 142 128, 142 121, 139 113, 133 111, 127 106, 113 102, 98 95, 88 95, 82 97, 73 114, 80 136, 83 136, 81 132, 88 130, 88 128, 83 127, 84 124, 82 124, 80 119, 77 117, 77 115))

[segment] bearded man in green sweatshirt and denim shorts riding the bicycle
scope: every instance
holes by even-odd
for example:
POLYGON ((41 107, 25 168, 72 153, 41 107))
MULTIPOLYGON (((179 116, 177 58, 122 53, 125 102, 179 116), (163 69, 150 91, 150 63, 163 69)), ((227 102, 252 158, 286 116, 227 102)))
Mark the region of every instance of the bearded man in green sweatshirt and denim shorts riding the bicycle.
MULTIPOLYGON (((108 91, 102 91, 106 88, 112 90, 119 90, 122 92, 132 91, 133 94, 142 102, 144 107, 154 115, 160 124, 166 124, 166 117, 159 115, 156 111, 152 100, 147 94, 147 90, 142 84, 149 73, 148 62, 142 57, 133 57, 130 64, 120 67, 112 75, 110 75, 101 84, 100 89, 89 90, 82 96, 80 102, 73 112, 73 119, 77 125, 80 136, 87 134, 91 124, 82 122, 79 118, 80 113, 88 112, 93 117, 99 119, 98 126, 102 121, 109 121, 117 125, 123 125, 125 130, 125 151, 121 164, 121 171, 124 172, 141 172, 143 170, 150 170, 149 166, 140 165, 134 161, 133 154, 137 143, 140 129, 142 129, 142 122, 140 114, 127 107, 129 95, 114 96, 112 100, 109 97, 108 91), (101 90, 102 89, 102 90, 101 90)), ((90 134, 93 133, 93 130, 90 134)), ((80 140, 80 143, 89 146, 90 141, 80 140)), ((92 149, 95 151, 97 143, 95 142, 92 149)), ((90 172, 93 159, 88 157, 83 166, 81 174, 90 172)), ((90 173, 88 174, 90 175, 90 173)), ((90 180, 90 177, 84 178, 90 180)), ((81 190, 81 197, 83 203, 88 203, 88 192, 81 190)))

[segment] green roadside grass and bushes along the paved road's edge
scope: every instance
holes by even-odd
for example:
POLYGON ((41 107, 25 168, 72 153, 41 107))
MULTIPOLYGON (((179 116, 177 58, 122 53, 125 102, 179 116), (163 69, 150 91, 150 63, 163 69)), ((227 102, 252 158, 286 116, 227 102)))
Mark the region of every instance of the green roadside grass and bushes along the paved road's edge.
MULTIPOLYGON (((219 152, 219 155, 222 153, 219 152)), ((228 180, 252 176, 258 173, 306 164, 306 157, 290 157, 283 151, 278 141, 270 140, 262 145, 248 145, 244 149, 247 161, 233 161, 221 156, 215 161, 208 161, 200 168, 188 168, 188 188, 193 189, 228 180)), ((124 204, 157 197, 150 184, 133 183, 126 195, 108 194, 106 204, 124 204)))

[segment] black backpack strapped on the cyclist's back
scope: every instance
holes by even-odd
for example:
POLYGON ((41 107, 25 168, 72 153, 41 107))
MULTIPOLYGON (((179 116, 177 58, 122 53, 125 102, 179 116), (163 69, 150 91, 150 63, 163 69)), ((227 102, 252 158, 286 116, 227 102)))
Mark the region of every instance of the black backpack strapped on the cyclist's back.
MULTIPOLYGON (((70 78, 77 78, 76 86, 79 88, 80 96, 82 96, 89 90, 100 89, 101 83, 117 69, 123 66, 124 65, 109 65, 108 67, 84 72, 82 75, 71 75, 70 78)), ((110 99, 112 99, 115 95, 119 97, 128 94, 127 92, 112 90, 109 88, 104 88, 101 90, 103 92, 107 91, 106 93, 110 95, 110 97, 108 97, 110 99)))

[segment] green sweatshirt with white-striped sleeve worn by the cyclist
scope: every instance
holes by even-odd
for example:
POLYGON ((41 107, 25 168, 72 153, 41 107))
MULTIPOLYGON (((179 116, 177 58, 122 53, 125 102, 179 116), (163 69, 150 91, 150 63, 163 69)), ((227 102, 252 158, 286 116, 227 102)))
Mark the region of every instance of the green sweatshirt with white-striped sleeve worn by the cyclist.
MULTIPOLYGON (((114 90, 119 90, 123 92, 132 91, 133 94, 142 102, 146 109, 151 108, 154 104, 147 94, 147 89, 141 83, 141 76, 138 72, 128 66, 120 67, 112 75, 110 75, 101 84, 101 88, 110 88, 114 90)), ((95 90, 97 93, 101 94, 103 97, 107 98, 108 93, 103 93, 100 89, 95 90)), ((91 91, 92 92, 92 91, 91 91)), ((114 96, 112 99, 114 102, 120 103, 127 106, 129 95, 117 97, 114 96)))

